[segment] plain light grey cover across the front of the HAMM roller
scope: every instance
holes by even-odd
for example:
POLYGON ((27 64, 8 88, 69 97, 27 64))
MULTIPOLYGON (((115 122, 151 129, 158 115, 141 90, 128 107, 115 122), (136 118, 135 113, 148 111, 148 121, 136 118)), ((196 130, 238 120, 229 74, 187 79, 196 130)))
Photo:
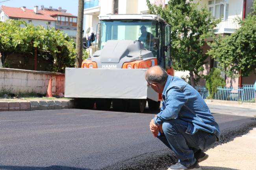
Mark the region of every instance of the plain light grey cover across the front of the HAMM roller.
POLYGON ((158 93, 147 87, 147 69, 65 69, 65 97, 147 99, 158 93))

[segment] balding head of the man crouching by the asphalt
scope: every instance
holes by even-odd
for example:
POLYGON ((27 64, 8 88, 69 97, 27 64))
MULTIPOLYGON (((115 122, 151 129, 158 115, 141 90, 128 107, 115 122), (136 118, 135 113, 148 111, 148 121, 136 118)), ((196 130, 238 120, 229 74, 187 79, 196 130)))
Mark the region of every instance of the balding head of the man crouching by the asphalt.
POLYGON ((160 66, 153 66, 147 69, 145 73, 145 78, 150 84, 158 83, 158 84, 164 85, 168 78, 168 74, 160 66))

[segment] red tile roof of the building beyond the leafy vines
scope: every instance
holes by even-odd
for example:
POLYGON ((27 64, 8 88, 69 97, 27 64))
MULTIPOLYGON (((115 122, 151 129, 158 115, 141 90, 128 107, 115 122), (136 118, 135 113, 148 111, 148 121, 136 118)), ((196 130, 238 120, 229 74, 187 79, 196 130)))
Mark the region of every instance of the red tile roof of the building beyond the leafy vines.
POLYGON ((48 21, 56 21, 52 16, 54 15, 65 15, 65 16, 74 16, 70 13, 63 13, 58 11, 42 11, 38 10, 38 13, 34 13, 32 9, 26 9, 23 11, 21 8, 17 7, 7 7, 2 5, 2 11, 8 16, 13 18, 28 18, 35 20, 48 20, 48 21))

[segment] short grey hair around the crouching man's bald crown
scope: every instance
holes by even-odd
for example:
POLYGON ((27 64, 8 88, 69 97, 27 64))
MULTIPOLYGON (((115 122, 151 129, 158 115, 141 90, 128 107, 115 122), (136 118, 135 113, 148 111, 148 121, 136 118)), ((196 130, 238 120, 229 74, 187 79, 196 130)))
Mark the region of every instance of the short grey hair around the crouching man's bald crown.
MULTIPOLYGON (((161 67, 160 67, 161 68, 161 67)), ((152 84, 152 83, 158 83, 158 84, 165 84, 167 78, 168 78, 168 74, 167 72, 161 68, 162 70, 162 73, 159 75, 159 74, 156 74, 156 73, 146 73, 146 80, 148 81, 149 84, 152 84)))

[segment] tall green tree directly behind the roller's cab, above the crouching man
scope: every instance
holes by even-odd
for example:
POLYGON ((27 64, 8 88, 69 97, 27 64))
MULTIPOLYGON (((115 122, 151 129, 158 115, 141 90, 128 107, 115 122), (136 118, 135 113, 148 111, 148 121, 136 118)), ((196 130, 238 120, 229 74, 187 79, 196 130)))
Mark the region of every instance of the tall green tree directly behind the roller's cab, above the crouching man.
POLYGON ((205 38, 213 36, 213 28, 219 20, 211 17, 206 7, 198 9, 193 0, 169 0, 165 7, 150 4, 150 14, 158 14, 171 25, 171 56, 173 68, 189 71, 191 85, 202 76, 207 55, 202 54, 205 38), (196 80, 195 77, 198 77, 196 80))

